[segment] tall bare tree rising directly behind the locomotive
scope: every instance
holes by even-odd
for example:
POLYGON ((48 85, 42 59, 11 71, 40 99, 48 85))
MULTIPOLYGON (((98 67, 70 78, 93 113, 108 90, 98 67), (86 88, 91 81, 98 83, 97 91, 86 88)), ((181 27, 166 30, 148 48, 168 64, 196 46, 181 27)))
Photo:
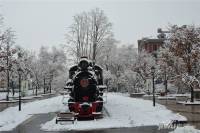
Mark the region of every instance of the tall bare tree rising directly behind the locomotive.
POLYGON ((67 34, 68 49, 78 61, 81 56, 96 60, 102 46, 113 37, 112 24, 99 8, 74 16, 67 34))

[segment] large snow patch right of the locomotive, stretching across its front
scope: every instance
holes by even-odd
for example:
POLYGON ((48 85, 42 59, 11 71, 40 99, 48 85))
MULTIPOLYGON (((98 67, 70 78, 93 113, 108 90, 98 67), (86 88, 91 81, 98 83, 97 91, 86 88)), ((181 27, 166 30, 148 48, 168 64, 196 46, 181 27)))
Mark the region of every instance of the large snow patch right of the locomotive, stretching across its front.
POLYGON ((55 124, 55 118, 41 125, 45 131, 91 130, 102 128, 135 127, 170 123, 171 120, 186 120, 174 114, 163 105, 152 106, 152 101, 130 98, 116 93, 108 93, 105 108, 110 116, 96 121, 77 121, 75 124, 55 124))

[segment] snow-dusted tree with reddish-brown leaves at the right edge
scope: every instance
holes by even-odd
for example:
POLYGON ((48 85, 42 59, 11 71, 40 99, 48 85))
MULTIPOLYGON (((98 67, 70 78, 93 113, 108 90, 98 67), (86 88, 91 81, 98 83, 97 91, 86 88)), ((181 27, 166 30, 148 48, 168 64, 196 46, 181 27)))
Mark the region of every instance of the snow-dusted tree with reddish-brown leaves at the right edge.
POLYGON ((169 38, 165 44, 164 56, 168 56, 168 66, 173 68, 175 78, 182 81, 191 90, 199 87, 200 28, 194 25, 171 26, 169 38))

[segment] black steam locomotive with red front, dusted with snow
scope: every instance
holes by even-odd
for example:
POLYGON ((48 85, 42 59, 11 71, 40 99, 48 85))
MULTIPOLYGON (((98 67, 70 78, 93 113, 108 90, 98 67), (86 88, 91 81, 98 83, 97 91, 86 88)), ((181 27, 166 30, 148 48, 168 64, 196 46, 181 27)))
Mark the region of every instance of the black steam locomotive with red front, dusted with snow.
POLYGON ((87 57, 69 69, 69 81, 65 89, 69 90, 68 107, 79 118, 96 117, 103 108, 103 70, 87 57))

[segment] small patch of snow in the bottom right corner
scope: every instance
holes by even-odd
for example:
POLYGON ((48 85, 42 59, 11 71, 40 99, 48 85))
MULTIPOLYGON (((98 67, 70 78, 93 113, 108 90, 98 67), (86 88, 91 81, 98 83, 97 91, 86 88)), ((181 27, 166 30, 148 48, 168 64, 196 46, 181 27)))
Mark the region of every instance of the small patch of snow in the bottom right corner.
POLYGON ((193 126, 177 127, 170 133, 200 133, 200 130, 195 129, 193 126))

